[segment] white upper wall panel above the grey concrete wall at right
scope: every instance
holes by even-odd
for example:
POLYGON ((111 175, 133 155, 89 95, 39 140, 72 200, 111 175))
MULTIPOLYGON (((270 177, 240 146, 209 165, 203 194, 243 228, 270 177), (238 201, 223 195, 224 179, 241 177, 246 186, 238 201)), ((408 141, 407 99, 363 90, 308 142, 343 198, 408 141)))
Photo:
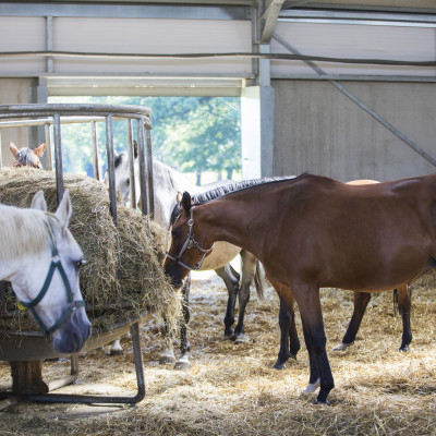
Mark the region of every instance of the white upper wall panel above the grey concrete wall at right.
MULTIPOLYGON (((436 53, 436 29, 432 27, 279 22, 275 32, 307 56, 427 61, 434 59, 436 53)), ((276 39, 271 41, 271 52, 290 53, 276 39)), ((435 68, 316 64, 327 74, 436 74, 435 68)), ((315 73, 303 62, 272 61, 271 74, 315 73)))

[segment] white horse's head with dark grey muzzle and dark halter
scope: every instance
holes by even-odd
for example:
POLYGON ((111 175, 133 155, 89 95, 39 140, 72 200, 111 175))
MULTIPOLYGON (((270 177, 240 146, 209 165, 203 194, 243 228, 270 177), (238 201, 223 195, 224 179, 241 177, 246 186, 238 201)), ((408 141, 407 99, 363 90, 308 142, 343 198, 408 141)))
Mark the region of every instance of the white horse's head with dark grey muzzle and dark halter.
MULTIPOLYGON (((90 323, 78 284, 84 256, 68 229, 72 214, 70 194, 65 191, 57 211, 48 214, 39 191, 32 208, 35 234, 39 232, 43 243, 35 241, 33 250, 27 247, 21 258, 9 262, 12 271, 8 280, 21 305, 32 312, 47 336, 52 336, 55 349, 74 353, 89 337, 90 323)), ((21 219, 24 217, 21 215, 21 219)))

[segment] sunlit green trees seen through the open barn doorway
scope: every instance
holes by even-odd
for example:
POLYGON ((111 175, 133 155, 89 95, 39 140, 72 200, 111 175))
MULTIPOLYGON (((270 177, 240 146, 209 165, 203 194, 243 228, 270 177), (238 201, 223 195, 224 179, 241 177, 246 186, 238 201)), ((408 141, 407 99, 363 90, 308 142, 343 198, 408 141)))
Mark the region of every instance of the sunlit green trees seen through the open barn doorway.
MULTIPOLYGON (((206 171, 230 179, 241 170, 240 100, 231 97, 51 97, 49 102, 96 102, 147 106, 152 109, 154 157, 172 168, 206 171)), ((136 125, 134 123, 134 131, 136 125)), ((105 162, 105 123, 97 123, 100 159, 105 162)), ((125 149, 125 122, 114 121, 113 141, 125 149)), ((134 132, 134 136, 136 132, 134 132)), ((62 126, 66 172, 93 174, 90 130, 87 124, 62 126)))

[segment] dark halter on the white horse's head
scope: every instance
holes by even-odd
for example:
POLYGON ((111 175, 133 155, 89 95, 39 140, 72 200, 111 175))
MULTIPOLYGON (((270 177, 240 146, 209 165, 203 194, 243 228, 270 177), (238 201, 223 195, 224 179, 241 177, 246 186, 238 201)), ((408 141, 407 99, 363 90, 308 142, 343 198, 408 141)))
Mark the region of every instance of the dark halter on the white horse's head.
POLYGON ((24 301, 19 300, 19 306, 21 305, 23 307, 28 308, 31 311, 32 315, 35 317, 36 322, 38 323, 40 329, 44 331, 44 335, 49 336, 49 335, 53 334, 78 307, 84 307, 85 301, 84 300, 74 300, 73 291, 71 290, 71 286, 70 286, 68 277, 66 277, 66 272, 63 269, 61 259, 59 257, 58 249, 55 243, 53 232, 47 222, 45 222, 45 225, 48 228, 48 231, 50 234, 50 240, 51 240, 50 268, 47 272, 46 280, 45 280, 43 288, 39 291, 38 295, 36 295, 36 298, 29 302, 24 302, 24 301), (65 287, 69 305, 62 312, 59 319, 51 327, 47 327, 44 324, 43 319, 39 317, 39 315, 36 313, 35 306, 38 305, 40 303, 40 301, 44 299, 44 296, 46 295, 48 288, 50 287, 51 279, 53 278, 55 271, 57 269, 59 270, 59 274, 61 275, 63 286, 65 287))

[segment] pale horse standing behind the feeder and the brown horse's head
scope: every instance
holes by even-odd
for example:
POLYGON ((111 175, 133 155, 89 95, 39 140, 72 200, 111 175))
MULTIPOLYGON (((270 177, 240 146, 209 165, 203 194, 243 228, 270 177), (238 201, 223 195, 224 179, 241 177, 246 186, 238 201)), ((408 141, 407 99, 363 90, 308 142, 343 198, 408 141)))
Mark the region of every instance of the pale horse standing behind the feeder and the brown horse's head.
MULTIPOLYGON (((116 154, 114 157, 114 173, 116 173, 116 190, 120 193, 122 201, 126 206, 130 206, 130 178, 129 178, 129 159, 126 153, 116 154)), ((138 159, 135 149, 134 160, 134 183, 137 199, 140 199, 140 171, 138 159)), ((108 183, 107 173, 105 182, 108 183)), ((206 186, 196 186, 187 180, 182 173, 168 167, 167 165, 153 160, 153 183, 154 183, 154 203, 155 203, 155 220, 164 229, 169 230, 171 225, 171 216, 174 207, 178 205, 178 197, 180 192, 192 191, 193 193, 204 193, 214 187, 232 183, 231 181, 219 181, 206 186)), ((169 232, 167 233, 168 242, 170 240, 169 232)), ((263 287, 259 275, 258 262, 249 252, 240 247, 229 244, 227 242, 217 242, 214 251, 205 258, 201 270, 215 270, 216 274, 222 278, 229 292, 229 300, 227 305, 227 313, 225 317, 225 336, 234 340, 237 343, 246 342, 249 337, 244 332, 243 319, 245 306, 250 299, 250 287, 255 281, 257 294, 263 298, 263 287), (241 286, 240 276, 229 264, 238 254, 242 259, 242 275, 241 286), (234 323, 234 306, 237 295, 239 295, 240 311, 238 324, 233 330, 234 323)), ((189 311, 189 294, 190 294, 190 279, 186 280, 183 288, 183 323, 181 324, 181 355, 179 361, 175 362, 174 352, 172 349, 172 340, 167 338, 167 349, 164 351, 161 363, 175 362, 177 368, 187 368, 191 366, 187 352, 190 344, 187 341, 186 327, 190 320, 189 311)), ((114 343, 113 348, 119 349, 119 343, 114 343)), ((112 353, 112 350, 111 350, 112 353)))

